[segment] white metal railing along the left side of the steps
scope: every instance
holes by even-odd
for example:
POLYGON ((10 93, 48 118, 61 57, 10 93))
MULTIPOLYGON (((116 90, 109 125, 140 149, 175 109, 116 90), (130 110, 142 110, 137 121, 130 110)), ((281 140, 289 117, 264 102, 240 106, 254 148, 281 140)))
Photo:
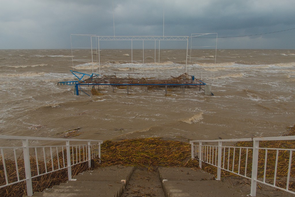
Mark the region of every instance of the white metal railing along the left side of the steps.
POLYGON ((6 187, 8 185, 13 185, 26 181, 27 185, 27 195, 32 196, 32 178, 36 178, 51 172, 55 172, 62 169, 68 170, 68 180, 72 180, 71 167, 79 163, 88 162, 88 167, 91 167, 91 159, 100 159, 100 146, 103 141, 101 140, 87 140, 87 139, 61 139, 61 138, 41 138, 41 137, 24 137, 24 136, 2 136, 0 139, 6 140, 18 140, 22 141, 22 146, 9 146, 0 147, 1 160, 3 164, 3 171, 6 184, 0 185, 0 188, 6 187), (36 144, 36 141, 51 141, 51 142, 63 142, 63 145, 56 146, 34 146, 31 144, 36 144), (72 145, 71 143, 84 142, 79 145, 72 145), (86 142, 86 143, 85 143, 86 142), (96 144, 91 144, 96 143, 96 144), (45 152, 48 154, 45 154, 45 152), (83 152, 83 157, 80 153, 83 152), (57 153, 60 153, 57 154, 57 153), (79 154, 78 154, 79 153, 79 154), (25 178, 19 174, 18 159, 23 155, 24 167, 25 167, 25 178), (34 161, 30 161, 30 158, 34 157, 34 161), (54 158, 57 158, 58 165, 53 164, 54 158), (7 159, 14 160, 15 162, 15 177, 11 178, 7 174, 7 169, 5 161, 7 159), (45 172, 40 171, 39 164, 44 163, 45 172), (31 166, 37 166, 37 175, 32 175, 31 166), (48 165, 48 166, 47 166, 48 165))

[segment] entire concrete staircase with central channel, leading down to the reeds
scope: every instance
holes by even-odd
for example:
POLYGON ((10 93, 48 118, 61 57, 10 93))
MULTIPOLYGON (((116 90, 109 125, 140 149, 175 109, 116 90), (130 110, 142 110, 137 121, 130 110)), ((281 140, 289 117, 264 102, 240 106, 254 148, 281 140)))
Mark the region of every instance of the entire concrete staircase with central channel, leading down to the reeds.
MULTIPOLYGON (((153 178, 145 172, 147 169, 138 170, 138 167, 109 166, 96 170, 82 172, 73 177, 73 180, 55 185, 53 188, 36 192, 33 196, 50 197, 132 197, 132 196, 157 196, 157 197, 227 197, 248 196, 250 186, 243 187, 227 179, 215 180, 214 176, 202 170, 184 167, 159 167, 153 178), (136 175, 132 175, 135 170, 136 175), (137 171, 136 171, 137 170, 137 171), (133 178, 131 178, 133 177, 133 178), (131 179, 130 179, 131 178, 131 179), (130 184, 128 184, 130 180, 130 184), (144 183, 145 182, 145 183, 144 183), (128 184, 128 187, 126 188, 128 184), (164 193, 155 193, 156 188, 163 188, 164 193), (136 188, 138 187, 138 188, 136 188), (126 190, 125 190, 126 188, 126 190), (125 192, 124 192, 125 190, 125 192)), ((244 181, 244 180, 243 180, 244 181)), ((260 190, 257 196, 289 196, 290 193, 274 189, 260 190), (270 192, 271 191, 271 192, 270 192)))

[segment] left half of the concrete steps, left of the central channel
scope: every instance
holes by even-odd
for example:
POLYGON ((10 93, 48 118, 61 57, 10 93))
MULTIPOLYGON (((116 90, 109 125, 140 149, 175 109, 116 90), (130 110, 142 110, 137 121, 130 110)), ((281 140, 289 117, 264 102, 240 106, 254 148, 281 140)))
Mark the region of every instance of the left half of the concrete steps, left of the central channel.
POLYGON ((119 197, 122 195, 134 167, 109 166, 82 172, 73 180, 54 185, 43 192, 35 192, 33 196, 72 197, 99 196, 119 197))

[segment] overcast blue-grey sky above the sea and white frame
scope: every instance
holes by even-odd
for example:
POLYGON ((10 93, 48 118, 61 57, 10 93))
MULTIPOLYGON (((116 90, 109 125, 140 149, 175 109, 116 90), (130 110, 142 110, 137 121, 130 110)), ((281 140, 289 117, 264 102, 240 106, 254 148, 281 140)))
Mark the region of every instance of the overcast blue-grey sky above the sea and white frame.
MULTIPOLYGON (((0 0, 0 49, 71 48, 71 34, 218 37, 295 28, 295 0, 0 0), (164 6, 163 6, 164 5, 164 6)), ((219 38, 217 48, 295 48, 295 30, 219 38)))

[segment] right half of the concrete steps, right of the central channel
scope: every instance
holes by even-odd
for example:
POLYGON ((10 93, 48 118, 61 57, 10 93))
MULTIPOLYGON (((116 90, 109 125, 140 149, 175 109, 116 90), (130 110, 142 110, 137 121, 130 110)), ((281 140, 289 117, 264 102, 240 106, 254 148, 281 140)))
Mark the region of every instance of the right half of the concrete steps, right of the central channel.
POLYGON ((213 175, 202 170, 196 171, 183 167, 160 167, 158 170, 165 197, 227 197, 249 194, 239 191, 227 182, 214 180, 213 175))

